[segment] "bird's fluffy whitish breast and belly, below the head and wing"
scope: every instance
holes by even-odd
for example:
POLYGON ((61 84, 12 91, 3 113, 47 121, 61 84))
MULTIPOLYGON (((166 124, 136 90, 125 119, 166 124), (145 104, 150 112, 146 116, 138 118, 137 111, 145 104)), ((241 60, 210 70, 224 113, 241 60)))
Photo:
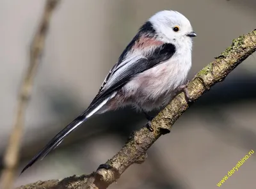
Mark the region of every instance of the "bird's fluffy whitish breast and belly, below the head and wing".
POLYGON ((186 82, 191 68, 191 50, 179 51, 166 62, 139 73, 125 84, 125 96, 134 96, 138 106, 152 110, 168 103, 178 87, 186 82))

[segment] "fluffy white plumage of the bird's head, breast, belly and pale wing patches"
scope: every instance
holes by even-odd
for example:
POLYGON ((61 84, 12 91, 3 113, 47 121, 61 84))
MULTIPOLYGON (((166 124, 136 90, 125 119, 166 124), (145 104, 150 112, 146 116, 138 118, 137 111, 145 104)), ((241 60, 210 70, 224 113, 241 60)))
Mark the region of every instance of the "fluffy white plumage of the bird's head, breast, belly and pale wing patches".
MULTIPOLYGON (((159 11, 148 21, 156 31, 156 41, 172 43, 175 46, 175 52, 170 59, 145 70, 145 72, 138 73, 122 87, 123 96, 118 96, 118 98, 130 99, 132 96, 131 100, 117 99, 117 101, 122 102, 119 103, 122 107, 132 105, 145 112, 166 105, 177 92, 179 86, 186 82, 191 68, 192 50, 192 39, 188 34, 193 33, 189 20, 177 11, 159 11), (173 31, 173 27, 177 26, 179 27, 179 32, 173 31)), ((147 36, 147 33, 144 35, 147 36)), ((142 35, 141 38, 143 37, 142 35)), ((129 68, 130 64, 136 63, 145 54, 154 54, 154 50, 157 47, 157 45, 152 45, 127 52, 124 66, 116 72, 124 72, 125 69, 129 68), (126 62, 127 59, 130 59, 130 61, 126 62)), ((118 77, 118 74, 115 77, 118 77)), ((110 79, 109 82, 113 82, 116 79, 115 77, 110 79)), ((111 109, 115 109, 115 107, 111 107, 111 109)), ((106 110, 109 110, 108 104, 101 111, 105 112, 106 110)))

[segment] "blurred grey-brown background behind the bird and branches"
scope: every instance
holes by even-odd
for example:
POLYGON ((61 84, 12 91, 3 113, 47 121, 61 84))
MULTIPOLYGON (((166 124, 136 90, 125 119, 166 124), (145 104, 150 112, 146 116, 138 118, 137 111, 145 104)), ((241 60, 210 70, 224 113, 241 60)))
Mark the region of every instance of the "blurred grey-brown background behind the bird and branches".
MULTIPOLYGON (((17 94, 29 63, 29 45, 45 0, 0 1, 0 158, 8 144, 17 94)), ((52 14, 26 122, 20 170, 49 140, 83 112, 138 28, 160 10, 177 10, 198 35, 191 79, 234 38, 256 27, 254 0, 62 0, 52 14)), ((227 79, 194 103, 109 188, 204 189, 216 184, 250 150, 256 151, 256 58, 250 56, 227 79)), ((131 109, 94 116, 43 161, 15 179, 15 186, 90 173, 145 125, 131 109)), ((0 165, 3 169, 3 163, 0 165)), ((221 187, 255 186, 256 154, 221 187), (253 176, 254 175, 254 176, 253 176)), ((1 170, 0 170, 1 172, 1 170)))

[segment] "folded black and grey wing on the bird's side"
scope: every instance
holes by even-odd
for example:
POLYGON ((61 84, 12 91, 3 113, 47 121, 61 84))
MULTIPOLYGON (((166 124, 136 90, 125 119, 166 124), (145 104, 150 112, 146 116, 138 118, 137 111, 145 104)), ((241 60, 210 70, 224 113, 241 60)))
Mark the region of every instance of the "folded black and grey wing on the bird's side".
POLYGON ((174 53, 175 46, 172 43, 164 43, 145 56, 134 56, 129 59, 125 59, 122 63, 116 63, 104 80, 99 93, 93 99, 90 107, 97 104, 100 99, 104 99, 109 96, 109 94, 113 93, 119 87, 124 86, 138 73, 144 72, 153 68, 157 64, 170 59, 174 53))

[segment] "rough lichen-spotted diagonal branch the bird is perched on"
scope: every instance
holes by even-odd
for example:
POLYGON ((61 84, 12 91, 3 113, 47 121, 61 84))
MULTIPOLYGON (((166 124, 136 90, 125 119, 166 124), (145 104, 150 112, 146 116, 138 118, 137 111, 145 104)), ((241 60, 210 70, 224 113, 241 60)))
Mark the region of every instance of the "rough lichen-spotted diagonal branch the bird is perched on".
POLYGON ((191 103, 195 102, 202 94, 214 84, 221 82, 232 72, 236 66, 244 61, 256 50, 256 29, 244 36, 233 40, 215 61, 208 64, 189 82, 186 87, 189 98, 186 100, 184 93, 179 93, 153 120, 150 132, 143 127, 129 137, 125 146, 111 160, 108 160, 96 172, 82 176, 71 176, 61 180, 38 181, 17 189, 65 189, 65 188, 108 188, 111 183, 120 178, 121 174, 133 163, 142 163, 147 158, 147 149, 161 135, 169 133, 172 125, 186 111, 191 103))

